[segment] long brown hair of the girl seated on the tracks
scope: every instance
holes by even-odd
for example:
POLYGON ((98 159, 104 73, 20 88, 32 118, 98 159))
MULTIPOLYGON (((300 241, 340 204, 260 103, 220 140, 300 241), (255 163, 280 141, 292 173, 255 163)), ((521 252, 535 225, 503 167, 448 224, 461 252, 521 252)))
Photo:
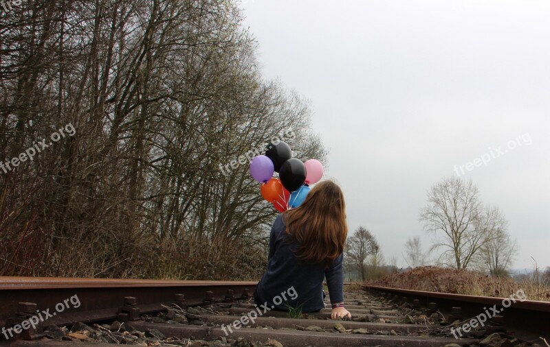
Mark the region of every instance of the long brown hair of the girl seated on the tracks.
POLYGON ((328 265, 344 252, 348 234, 344 194, 338 184, 323 181, 309 191, 305 201, 285 212, 287 241, 298 241, 299 259, 328 265))

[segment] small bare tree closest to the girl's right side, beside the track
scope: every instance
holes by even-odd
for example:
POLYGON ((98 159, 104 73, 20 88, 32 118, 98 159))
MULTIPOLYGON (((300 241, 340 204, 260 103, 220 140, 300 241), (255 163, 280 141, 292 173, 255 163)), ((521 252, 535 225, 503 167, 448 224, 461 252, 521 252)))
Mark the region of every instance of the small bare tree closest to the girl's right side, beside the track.
POLYGON ((353 236, 348 237, 345 249, 347 263, 358 271, 361 280, 366 280, 369 256, 377 254, 380 250, 380 245, 378 245, 374 235, 360 226, 355 230, 353 236))

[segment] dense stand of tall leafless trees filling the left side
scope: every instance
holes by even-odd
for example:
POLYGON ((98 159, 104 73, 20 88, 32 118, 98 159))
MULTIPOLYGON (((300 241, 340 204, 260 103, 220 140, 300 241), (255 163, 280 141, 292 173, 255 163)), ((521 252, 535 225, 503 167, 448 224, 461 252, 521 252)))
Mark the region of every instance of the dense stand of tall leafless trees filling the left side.
POLYGON ((243 278, 276 211, 239 165, 309 102, 265 80, 236 1, 30 1, 0 14, 0 275, 243 278), (245 271, 243 271, 243 269, 245 271))

